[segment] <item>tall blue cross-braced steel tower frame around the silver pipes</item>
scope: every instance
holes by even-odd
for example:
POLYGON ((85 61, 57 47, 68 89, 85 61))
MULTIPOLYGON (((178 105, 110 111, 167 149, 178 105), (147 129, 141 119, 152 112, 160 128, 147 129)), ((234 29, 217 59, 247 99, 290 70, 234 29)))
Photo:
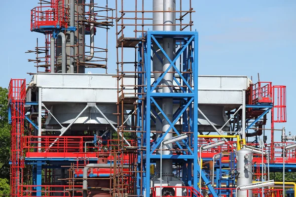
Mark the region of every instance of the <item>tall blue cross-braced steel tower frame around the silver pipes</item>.
MULTIPOLYGON (((144 105, 144 110, 146 110, 144 113, 144 125, 142 126, 144 128, 144 131, 146 131, 146 136, 145 136, 145 142, 146 144, 143 144, 144 146, 147 147, 146 152, 145 152, 145 157, 143 161, 145 162, 144 170, 145 170, 145 184, 144 184, 144 190, 146 191, 146 197, 150 196, 150 164, 151 160, 159 159, 159 155, 154 154, 153 152, 156 151, 156 148, 159 147, 160 142, 163 140, 165 135, 167 134, 168 131, 172 129, 177 135, 180 135, 180 131, 178 131, 175 128, 175 124, 183 114, 187 114, 186 109, 189 108, 188 111, 188 119, 186 119, 187 115, 184 117, 184 121, 187 121, 183 125, 183 129, 187 132, 189 132, 190 135, 190 144, 188 145, 185 140, 183 140, 183 143, 186 147, 186 151, 183 152, 183 155, 164 155, 163 159, 178 159, 181 160, 183 159, 184 166, 183 170, 185 170, 185 173, 183 174, 183 181, 185 181, 186 186, 192 186, 195 189, 198 189, 198 175, 199 175, 199 165, 198 165, 198 160, 197 160, 197 155, 198 155, 198 143, 197 143, 197 138, 198 138, 198 124, 196 123, 197 116, 198 116, 198 33, 197 32, 157 32, 157 31, 148 31, 147 32, 147 42, 142 43, 142 47, 144 47, 144 67, 142 67, 143 70, 146 72, 144 74, 141 74, 142 77, 144 77, 144 81, 146 82, 146 90, 144 95, 145 100, 143 101, 146 103, 144 105), (157 42, 155 39, 155 36, 157 37, 173 37, 176 39, 184 39, 185 44, 176 52, 176 56, 174 57, 174 60, 170 60, 170 58, 167 56, 165 53, 164 49, 160 46, 160 44, 157 42), (179 74, 180 78, 183 80, 183 86, 185 88, 181 88, 181 93, 155 93, 153 92, 157 85, 160 83, 162 80, 163 76, 167 73, 168 69, 162 73, 162 75, 159 76, 157 80, 154 80, 152 86, 151 86, 151 40, 154 40, 155 44, 159 47, 159 49, 162 51, 163 55, 168 58, 170 62, 170 66, 174 67, 176 72, 179 74), (193 46, 193 47, 190 47, 193 46), (146 48, 145 48, 146 47, 146 48), (187 48, 187 49, 186 49, 187 48), (192 49, 193 48, 193 49, 192 49), (185 50, 186 49, 186 50, 185 50), (186 75, 182 73, 183 70, 179 70, 175 63, 178 58, 182 58, 181 54, 186 55, 187 53, 187 59, 183 57, 183 60, 185 62, 183 63, 185 68, 189 68, 189 64, 191 63, 192 66, 192 76, 186 75), (191 62, 192 61, 192 62, 191 62), (192 88, 189 84, 194 85, 192 88), (168 117, 164 114, 164 111, 161 109, 161 107, 157 104, 156 99, 157 98, 173 98, 179 100, 182 100, 180 102, 181 108, 177 110, 174 114, 174 118, 172 121, 168 119, 168 117), (151 111, 151 103, 155 104, 155 106, 159 109, 161 114, 163 115, 164 119, 168 121, 170 124, 170 127, 165 131, 165 133, 162 134, 161 137, 157 138, 153 143, 150 143, 150 137, 151 137, 151 131, 150 131, 150 111, 151 111), (192 107, 193 105, 193 107, 192 107), (195 121, 195 124, 194 124, 195 121), (188 126, 190 126, 190 130, 188 130, 188 126), (193 141, 193 143, 192 143, 193 141), (193 148, 193 150, 192 150, 193 148), (193 165, 192 165, 193 164, 193 165), (187 165, 187 166, 186 166, 187 165), (193 166, 193 174, 191 173, 193 166), (192 177, 193 176, 193 177, 192 177), (193 180, 192 180, 193 179, 193 180)), ((155 50, 154 50, 155 51, 155 50)), ((184 68, 183 67, 183 68, 184 68)), ((176 78, 174 78, 175 82, 180 86, 179 82, 177 81, 176 78)), ((144 83, 145 83, 144 82, 144 83)), ((143 84, 142 84, 143 85, 143 84)), ((139 105, 140 106, 140 105, 139 105)), ((138 113, 140 115, 140 113, 138 113)), ((180 146, 180 143, 177 142, 177 145, 179 148, 183 149, 180 146)), ((175 162, 174 162, 175 163, 175 162)), ((217 197, 214 188, 210 184, 211 182, 207 179, 206 175, 201 172, 201 177, 205 181, 206 186, 208 186, 210 192, 212 193, 213 197, 217 197)), ((139 180, 139 179, 138 179, 139 180)))

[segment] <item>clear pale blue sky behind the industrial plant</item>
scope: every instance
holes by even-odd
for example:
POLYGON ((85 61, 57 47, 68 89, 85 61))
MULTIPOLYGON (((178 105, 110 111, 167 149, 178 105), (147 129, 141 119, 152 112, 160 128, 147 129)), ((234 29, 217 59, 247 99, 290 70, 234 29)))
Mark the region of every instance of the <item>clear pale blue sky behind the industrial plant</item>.
MULTIPOLYGON (((111 6, 114 0, 109 0, 111 6)), ((150 0, 149 0, 150 1, 150 0)), ((149 2, 148 1, 148 2, 149 2)), ((7 87, 10 78, 31 77, 36 72, 36 37, 30 32, 30 10, 38 0, 1 2, 1 77, 7 87), (13 11, 12 11, 13 10, 13 11), (13 12, 9 13, 9 12, 13 12)), ((129 2, 126 0, 125 2, 129 2)), ((151 0, 152 2, 152 0, 151 0)), ((247 75, 257 81, 287 86, 287 131, 293 131, 296 118, 296 1, 295 0, 192 0, 194 27, 199 32, 199 73, 206 75, 247 75)), ((96 36, 98 39, 98 36, 96 36)), ((110 31, 109 73, 114 73, 114 28, 110 31)), ((93 73, 99 72, 91 70, 93 73)), ((278 139, 280 140, 280 139, 278 139)))

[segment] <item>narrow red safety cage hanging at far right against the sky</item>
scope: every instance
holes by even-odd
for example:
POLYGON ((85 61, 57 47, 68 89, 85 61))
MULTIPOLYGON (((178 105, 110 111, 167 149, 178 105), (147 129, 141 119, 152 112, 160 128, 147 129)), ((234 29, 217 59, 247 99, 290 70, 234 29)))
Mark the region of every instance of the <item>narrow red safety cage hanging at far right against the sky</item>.
POLYGON ((273 86, 273 121, 287 122, 286 86, 273 86))

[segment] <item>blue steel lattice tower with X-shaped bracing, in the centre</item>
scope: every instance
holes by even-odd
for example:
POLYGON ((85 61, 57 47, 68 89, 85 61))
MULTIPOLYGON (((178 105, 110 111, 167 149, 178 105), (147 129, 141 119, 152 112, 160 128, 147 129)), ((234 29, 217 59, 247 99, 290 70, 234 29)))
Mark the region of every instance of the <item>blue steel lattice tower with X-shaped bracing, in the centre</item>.
MULTIPOLYGON (((162 155, 162 159, 173 160, 173 163, 182 163, 182 180, 185 186, 198 189, 199 165, 198 165, 198 32, 165 32, 165 31, 148 31, 144 37, 145 41, 139 43, 138 51, 138 111, 137 120, 138 131, 146 132, 143 139, 141 133, 138 132, 138 147, 146 147, 143 157, 140 156, 139 148, 138 154, 138 171, 143 170, 143 176, 138 173, 137 187, 138 195, 146 194, 150 196, 150 164, 155 164, 156 160, 160 160, 160 155, 156 154, 156 150, 164 139, 165 135, 172 129, 173 134, 178 136, 181 133, 187 133, 188 138, 182 140, 182 143, 176 142, 176 150, 180 150, 181 154, 162 155), (165 53, 164 49, 158 42, 163 38, 170 37, 176 41, 176 53, 173 60, 165 53), (154 48, 152 46, 154 44, 154 48), (151 71, 152 56, 155 55, 159 61, 162 59, 155 50, 155 44, 162 52, 163 57, 170 62, 170 66, 159 76, 157 80, 153 78, 151 71), (180 61, 180 66, 176 66, 176 61, 180 61), (171 93, 156 92, 155 89, 159 87, 164 75, 173 67, 176 75, 174 75, 174 87, 171 93), (143 88, 144 87, 144 88, 143 88), (179 108, 173 114, 173 120, 170 121, 166 114, 164 114, 162 107, 159 105, 159 100, 162 98, 172 98, 174 104, 179 104, 179 108), (160 116, 156 113, 156 108, 169 124, 170 128, 162 133, 158 138, 151 140, 151 121, 155 123, 155 119, 162 121, 160 116), (153 118, 150 114, 154 114, 153 118), (143 120, 143 125, 141 124, 143 120), (182 121, 180 121, 182 119, 182 121), (176 127, 177 122, 182 126, 176 127), (181 123, 182 122, 182 123, 181 123), (142 158, 142 159, 141 159, 142 158), (142 165, 141 165, 142 163, 142 165), (143 168, 141 169, 141 166, 143 168), (193 174, 192 174, 193 172, 193 174), (143 187, 140 186, 142 183, 143 187), (142 189, 142 191, 141 191, 142 189)), ((202 173, 201 177, 206 179, 202 173)), ((206 182, 206 181, 205 181, 206 182)), ((211 185, 208 186, 210 191, 214 192, 211 185)), ((215 194, 214 194, 215 196, 215 194)))

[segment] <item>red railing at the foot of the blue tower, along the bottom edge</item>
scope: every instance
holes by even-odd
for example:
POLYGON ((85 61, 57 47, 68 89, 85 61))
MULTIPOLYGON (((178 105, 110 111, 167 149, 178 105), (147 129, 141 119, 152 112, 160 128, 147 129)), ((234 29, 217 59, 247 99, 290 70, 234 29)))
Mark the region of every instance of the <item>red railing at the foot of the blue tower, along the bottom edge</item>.
MULTIPOLYGON (((162 191, 167 189, 170 197, 203 197, 193 187, 182 187, 182 186, 163 186, 162 191), (174 193, 174 194, 173 194, 174 193)), ((152 187, 152 197, 160 197, 160 186, 152 187)))

